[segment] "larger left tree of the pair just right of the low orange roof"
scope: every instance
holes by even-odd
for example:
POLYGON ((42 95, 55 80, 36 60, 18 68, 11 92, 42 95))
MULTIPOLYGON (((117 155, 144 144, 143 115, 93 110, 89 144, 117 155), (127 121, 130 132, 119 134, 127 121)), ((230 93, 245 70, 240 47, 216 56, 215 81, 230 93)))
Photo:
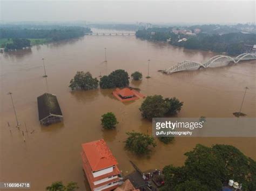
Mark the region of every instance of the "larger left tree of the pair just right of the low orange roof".
POLYGON ((151 120, 152 118, 164 117, 168 108, 164 98, 161 95, 147 96, 139 110, 143 118, 151 120))

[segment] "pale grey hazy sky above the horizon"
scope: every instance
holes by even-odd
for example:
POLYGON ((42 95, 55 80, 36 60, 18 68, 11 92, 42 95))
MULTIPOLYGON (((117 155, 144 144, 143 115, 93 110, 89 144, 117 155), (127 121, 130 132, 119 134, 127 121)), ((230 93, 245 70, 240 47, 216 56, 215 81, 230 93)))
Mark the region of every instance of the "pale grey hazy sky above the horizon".
POLYGON ((255 1, 0 0, 1 21, 255 23, 255 1))

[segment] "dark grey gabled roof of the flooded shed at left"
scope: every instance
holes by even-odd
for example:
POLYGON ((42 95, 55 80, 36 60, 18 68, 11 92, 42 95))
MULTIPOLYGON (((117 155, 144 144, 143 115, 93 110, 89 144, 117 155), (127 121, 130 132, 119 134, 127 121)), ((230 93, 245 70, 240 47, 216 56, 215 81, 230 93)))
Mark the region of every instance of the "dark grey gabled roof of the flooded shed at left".
POLYGON ((56 95, 51 93, 44 93, 37 97, 38 117, 39 121, 49 117, 50 115, 57 115, 62 117, 59 103, 56 95))

